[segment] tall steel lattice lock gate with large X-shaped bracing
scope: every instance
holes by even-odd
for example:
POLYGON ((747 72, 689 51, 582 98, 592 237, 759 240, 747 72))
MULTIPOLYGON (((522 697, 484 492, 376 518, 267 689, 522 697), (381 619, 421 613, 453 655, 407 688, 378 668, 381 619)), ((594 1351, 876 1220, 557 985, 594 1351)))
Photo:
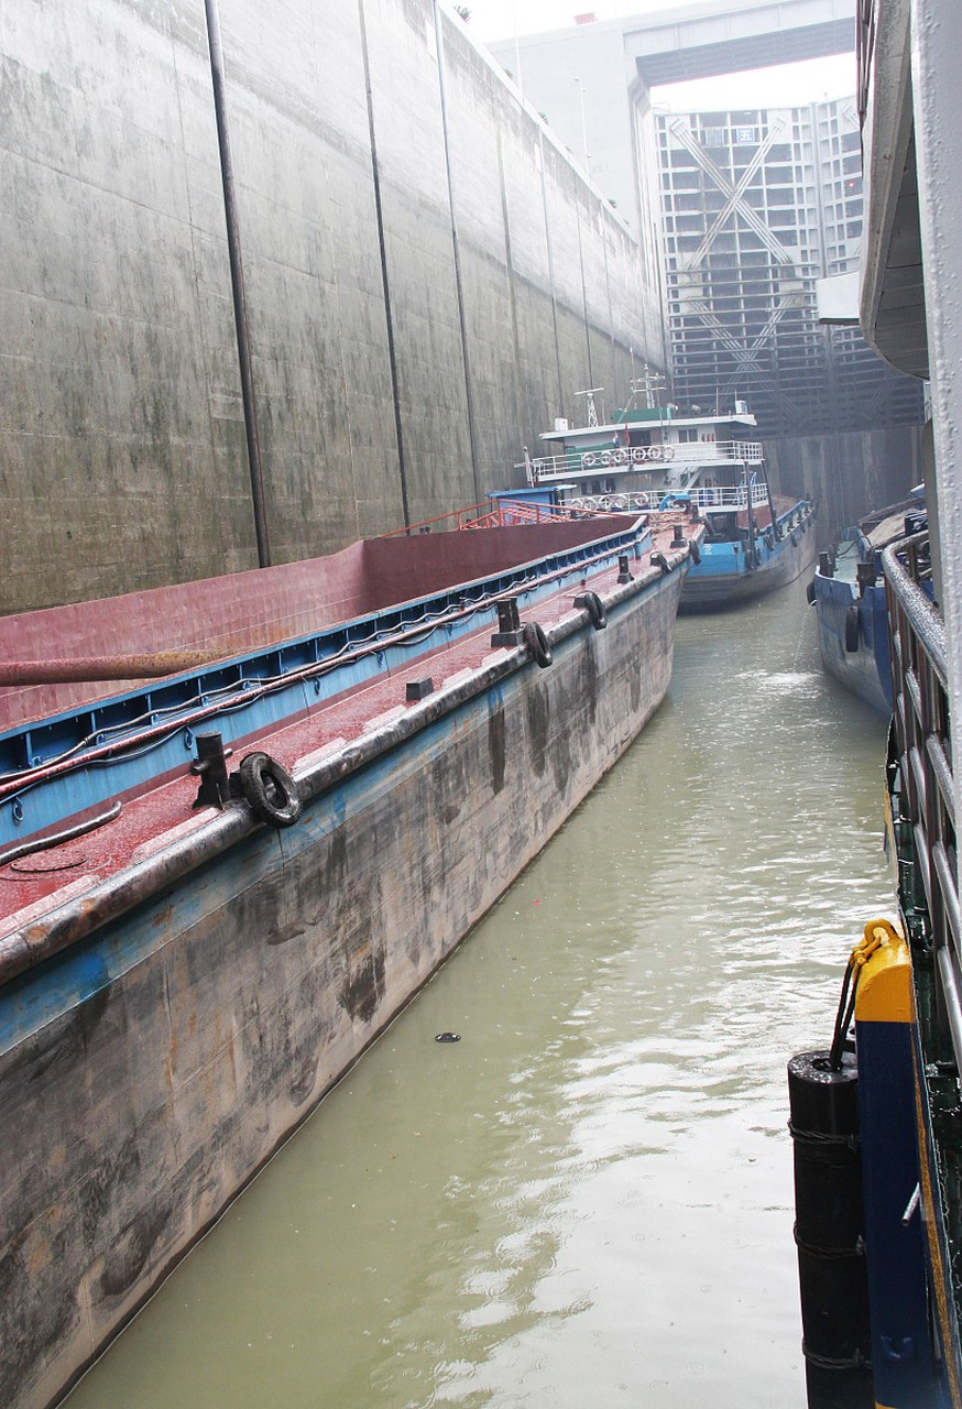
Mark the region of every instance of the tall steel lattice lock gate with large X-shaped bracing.
POLYGON ((817 318, 816 280, 859 262, 855 101, 665 114, 658 148, 675 399, 744 397, 765 435, 921 421, 920 382, 817 318))

